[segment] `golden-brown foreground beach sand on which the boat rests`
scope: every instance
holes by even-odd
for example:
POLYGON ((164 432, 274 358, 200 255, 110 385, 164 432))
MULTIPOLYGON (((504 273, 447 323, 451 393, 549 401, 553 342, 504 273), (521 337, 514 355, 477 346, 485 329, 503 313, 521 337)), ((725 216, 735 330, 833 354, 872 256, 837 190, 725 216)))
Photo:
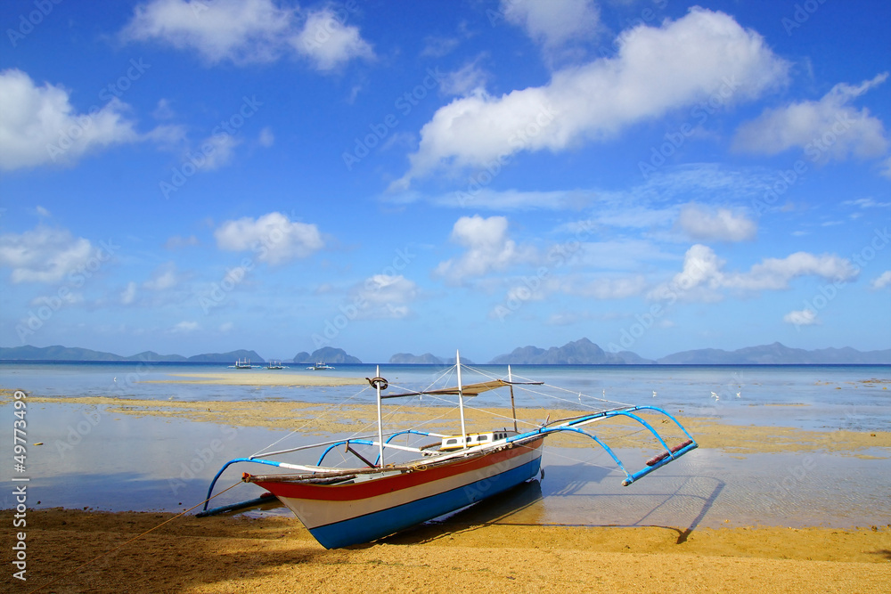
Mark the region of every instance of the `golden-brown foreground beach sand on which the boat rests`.
MULTIPOLYGON (((879 592, 891 582, 891 526, 686 532, 463 525, 460 515, 335 550, 296 519, 181 517, 78 569, 170 517, 31 511, 28 582, 4 575, 8 591, 59 577, 40 591, 810 593, 879 592)), ((12 512, 0 513, 11 521, 12 512)))

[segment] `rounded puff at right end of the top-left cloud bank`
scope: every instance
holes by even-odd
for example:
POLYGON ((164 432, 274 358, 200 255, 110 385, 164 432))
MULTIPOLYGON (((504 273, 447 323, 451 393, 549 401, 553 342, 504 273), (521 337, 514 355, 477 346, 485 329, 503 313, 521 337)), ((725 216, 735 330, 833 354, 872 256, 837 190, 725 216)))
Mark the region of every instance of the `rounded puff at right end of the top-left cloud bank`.
POLYGON ((331 70, 354 58, 374 58, 372 45, 347 26, 330 8, 310 12, 303 29, 291 38, 297 52, 315 63, 319 70, 331 70))

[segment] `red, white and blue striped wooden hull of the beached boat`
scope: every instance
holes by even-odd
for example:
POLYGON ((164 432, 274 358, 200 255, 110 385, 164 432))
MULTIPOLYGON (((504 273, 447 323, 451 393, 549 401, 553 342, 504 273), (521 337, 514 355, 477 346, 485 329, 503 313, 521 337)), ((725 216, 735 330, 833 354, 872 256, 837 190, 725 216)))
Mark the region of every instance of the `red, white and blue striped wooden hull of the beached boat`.
POLYGON ((511 448, 351 484, 264 476, 251 482, 282 500, 326 549, 373 541, 484 500, 537 475, 544 436, 511 448))

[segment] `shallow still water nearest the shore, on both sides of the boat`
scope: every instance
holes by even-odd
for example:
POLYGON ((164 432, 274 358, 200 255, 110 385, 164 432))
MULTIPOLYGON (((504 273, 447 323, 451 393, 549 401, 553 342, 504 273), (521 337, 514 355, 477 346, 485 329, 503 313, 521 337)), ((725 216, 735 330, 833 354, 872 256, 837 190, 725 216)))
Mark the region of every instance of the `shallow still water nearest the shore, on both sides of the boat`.
MULTIPOLYGON (((11 404, 0 407, 0 419, 12 419, 11 404)), ((210 479, 225 460, 258 452, 286 435, 65 404, 33 404, 28 419, 28 471, 22 476, 31 479, 29 505, 37 508, 181 511, 204 500, 210 479), (36 442, 44 445, 31 445, 36 442)), ((0 440, 12 442, 12 422, 0 423, 0 440)), ((887 456, 887 452, 866 453, 887 456)), ((635 454, 617 451, 625 461, 635 454)), ((545 446, 542 463, 540 483, 440 521, 662 525, 682 531, 726 525, 891 524, 887 499, 891 462, 884 457, 824 453, 740 457, 699 449, 627 487, 621 486, 624 475, 597 446, 545 446)), ((242 470, 228 470, 217 492, 238 484, 242 470)), ((0 466, 0 481, 10 484, 10 473, 10 465, 0 466)), ((0 496, 0 507, 14 507, 11 491, 0 496)), ((212 505, 252 499, 259 493, 255 485, 242 484, 212 505)), ((284 509, 250 513, 290 516, 284 509)))

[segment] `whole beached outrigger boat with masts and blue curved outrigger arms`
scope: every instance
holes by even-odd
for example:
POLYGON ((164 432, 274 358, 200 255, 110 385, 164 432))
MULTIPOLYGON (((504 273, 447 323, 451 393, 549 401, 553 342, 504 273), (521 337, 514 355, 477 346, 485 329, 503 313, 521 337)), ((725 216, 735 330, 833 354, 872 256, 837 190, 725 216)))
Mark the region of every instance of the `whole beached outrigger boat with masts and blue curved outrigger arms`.
MULTIPOLYGON (((208 499, 225 469, 236 463, 252 463, 280 468, 285 474, 252 475, 244 473, 242 480, 266 489, 282 501, 310 533, 326 549, 346 547, 377 540, 413 525, 462 509, 479 500, 503 493, 511 487, 534 478, 541 472, 542 444, 549 435, 577 434, 592 439, 609 453, 625 474, 622 484, 633 484, 654 470, 677 460, 697 447, 697 443, 677 419, 655 406, 603 406, 598 411, 587 411, 569 419, 536 424, 520 431, 514 406, 514 387, 543 386, 544 382, 517 380, 508 367, 506 379, 492 378, 484 382, 462 385, 462 365, 456 357, 457 386, 384 394, 388 381, 380 377, 366 378, 377 395, 377 435, 363 435, 314 445, 260 452, 249 458, 236 458, 225 463, 217 472, 208 489, 208 499), (513 427, 470 433, 465 426, 464 400, 498 388, 509 388, 513 427), (399 429, 385 433, 382 423, 382 404, 386 400, 423 398, 432 396, 452 402, 457 397, 461 418, 461 434, 447 435, 419 429, 399 429), (680 432, 673 432, 674 442, 668 443, 659 435, 643 414, 658 414, 674 421, 680 432), (616 452, 601 441, 590 427, 609 419, 631 419, 641 427, 635 433, 648 432, 650 443, 657 452, 640 470, 625 469, 616 452), (395 443, 405 436, 426 440, 420 445, 395 443), (684 439, 683 437, 686 437, 684 439), (430 438, 435 439, 429 443, 430 438), (275 460, 284 454, 307 452, 318 448, 321 452, 315 464, 298 464, 275 460), (345 448, 361 461, 361 466, 340 468, 326 464, 331 452, 345 448), (386 458, 385 458, 386 454, 386 458), (373 460, 372 460, 373 459, 373 460)), ((527 388, 529 389, 529 388, 527 388)), ((579 395, 581 399, 581 395, 579 395)), ((609 401, 596 399, 602 403, 609 401)), ((671 440, 671 438, 668 438, 671 440)), ((542 473, 544 476, 544 473, 542 473)), ((256 501, 256 500, 255 500, 256 501)), ((208 503, 200 515, 210 515, 208 503)), ((225 506, 223 509, 233 509, 225 506)))

